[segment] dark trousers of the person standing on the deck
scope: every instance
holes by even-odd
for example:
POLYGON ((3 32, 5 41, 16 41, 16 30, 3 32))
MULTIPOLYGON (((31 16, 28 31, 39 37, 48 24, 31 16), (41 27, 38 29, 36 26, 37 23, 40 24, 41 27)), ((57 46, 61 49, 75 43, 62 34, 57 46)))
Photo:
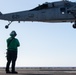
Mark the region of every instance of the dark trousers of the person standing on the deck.
POLYGON ((7 64, 6 64, 6 72, 9 71, 10 63, 12 62, 11 71, 15 71, 15 63, 17 59, 17 51, 7 51, 7 64))

